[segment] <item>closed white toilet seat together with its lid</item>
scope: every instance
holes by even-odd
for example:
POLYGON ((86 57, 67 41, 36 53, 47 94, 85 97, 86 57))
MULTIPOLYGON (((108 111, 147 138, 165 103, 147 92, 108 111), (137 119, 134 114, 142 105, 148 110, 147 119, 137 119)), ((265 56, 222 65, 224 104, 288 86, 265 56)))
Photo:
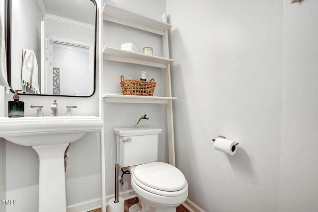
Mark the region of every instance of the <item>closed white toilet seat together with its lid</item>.
POLYGON ((136 166, 132 170, 132 180, 142 189, 160 196, 176 197, 183 195, 188 190, 182 172, 163 162, 136 166))

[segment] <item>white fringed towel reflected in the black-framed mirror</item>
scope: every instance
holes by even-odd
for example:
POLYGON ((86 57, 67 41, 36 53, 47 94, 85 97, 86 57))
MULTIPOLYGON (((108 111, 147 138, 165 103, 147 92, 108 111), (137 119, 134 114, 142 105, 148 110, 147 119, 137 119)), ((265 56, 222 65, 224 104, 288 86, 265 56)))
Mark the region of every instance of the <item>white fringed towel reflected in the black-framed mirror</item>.
POLYGON ((22 86, 28 86, 36 94, 39 91, 38 62, 32 50, 22 50, 22 86))

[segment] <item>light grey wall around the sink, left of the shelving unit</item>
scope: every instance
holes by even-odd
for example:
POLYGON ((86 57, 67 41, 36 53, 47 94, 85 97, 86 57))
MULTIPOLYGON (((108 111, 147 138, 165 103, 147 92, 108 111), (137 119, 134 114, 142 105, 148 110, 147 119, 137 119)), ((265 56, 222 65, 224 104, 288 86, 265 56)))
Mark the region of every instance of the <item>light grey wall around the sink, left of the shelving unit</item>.
MULTIPOLYGON (((99 3, 99 0, 96 0, 99 3)), ((1 1, 0 9, 4 11, 1 1)), ((27 96, 20 95, 25 104, 25 115, 35 115, 36 109, 30 105, 43 105, 44 116, 51 115, 50 105, 53 100, 58 102, 61 116, 66 114, 67 105, 77 105, 72 109, 73 115, 99 116, 98 75, 96 78, 96 92, 89 98, 59 97, 59 96, 27 96)), ((7 101, 11 101, 13 94, 4 96, 4 111, 7 116, 7 101)), ((2 97, 2 96, 1 96, 2 97)), ((87 133, 84 137, 71 144, 66 172, 67 203, 68 206, 98 200, 101 196, 100 178, 100 139, 98 133, 87 133)), ((32 147, 24 147, 6 141, 6 199, 17 200, 16 205, 7 206, 6 212, 37 211, 38 207, 38 156, 32 147), (19 173, 18 175, 16 173, 19 173)), ((3 150, 2 150, 3 151, 3 150)), ((2 151, 0 154, 2 155, 2 151)), ((3 167, 1 167, 3 168, 3 167)), ((2 182, 2 179, 0 180, 2 182)), ((98 202, 99 203, 99 202, 98 202)))

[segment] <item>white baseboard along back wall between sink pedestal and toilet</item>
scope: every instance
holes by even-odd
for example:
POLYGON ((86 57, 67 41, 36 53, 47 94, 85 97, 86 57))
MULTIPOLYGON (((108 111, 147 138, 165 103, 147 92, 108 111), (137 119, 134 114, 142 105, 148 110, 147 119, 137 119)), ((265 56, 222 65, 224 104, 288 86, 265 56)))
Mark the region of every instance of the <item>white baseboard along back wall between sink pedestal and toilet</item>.
MULTIPOLYGON (((123 198, 124 200, 128 200, 137 197, 137 195, 135 194, 134 190, 131 189, 119 193, 119 197, 123 198)), ((115 194, 106 196, 106 206, 108 206, 108 201, 112 198, 115 198, 115 194)), ((101 208, 101 198, 68 206, 67 212, 88 212, 99 208, 101 208)))

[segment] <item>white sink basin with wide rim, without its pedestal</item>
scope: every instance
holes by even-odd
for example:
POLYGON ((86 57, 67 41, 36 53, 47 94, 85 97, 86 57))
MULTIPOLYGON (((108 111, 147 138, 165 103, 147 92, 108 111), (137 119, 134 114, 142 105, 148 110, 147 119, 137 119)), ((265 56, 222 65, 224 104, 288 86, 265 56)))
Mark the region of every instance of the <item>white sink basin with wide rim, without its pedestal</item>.
POLYGON ((100 131, 102 126, 95 116, 1 117, 0 137, 24 146, 62 144, 100 131))

